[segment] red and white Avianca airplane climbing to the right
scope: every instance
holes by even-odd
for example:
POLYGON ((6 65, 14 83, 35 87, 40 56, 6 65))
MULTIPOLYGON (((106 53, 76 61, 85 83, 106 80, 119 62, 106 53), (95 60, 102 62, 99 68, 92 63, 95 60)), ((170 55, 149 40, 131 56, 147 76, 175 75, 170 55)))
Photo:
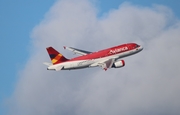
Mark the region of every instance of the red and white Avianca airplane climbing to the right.
POLYGON ((97 52, 89 52, 66 46, 64 46, 64 49, 81 56, 67 59, 53 47, 47 47, 46 50, 51 59, 51 63, 44 62, 48 66, 47 70, 74 70, 97 66, 105 71, 110 68, 121 68, 125 66, 125 61, 120 60, 121 58, 136 54, 142 51, 143 47, 136 43, 127 43, 97 52))

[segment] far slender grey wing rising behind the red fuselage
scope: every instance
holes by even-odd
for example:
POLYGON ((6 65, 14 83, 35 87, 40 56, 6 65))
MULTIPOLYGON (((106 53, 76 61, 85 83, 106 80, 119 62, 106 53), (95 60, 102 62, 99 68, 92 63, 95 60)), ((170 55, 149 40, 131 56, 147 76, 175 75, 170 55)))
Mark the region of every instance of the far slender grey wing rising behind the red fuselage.
POLYGON ((66 46, 64 46, 64 49, 68 49, 68 50, 74 52, 75 54, 80 54, 80 55, 86 55, 86 54, 92 53, 92 52, 89 52, 89 51, 80 50, 80 49, 73 48, 73 47, 66 47, 66 46))

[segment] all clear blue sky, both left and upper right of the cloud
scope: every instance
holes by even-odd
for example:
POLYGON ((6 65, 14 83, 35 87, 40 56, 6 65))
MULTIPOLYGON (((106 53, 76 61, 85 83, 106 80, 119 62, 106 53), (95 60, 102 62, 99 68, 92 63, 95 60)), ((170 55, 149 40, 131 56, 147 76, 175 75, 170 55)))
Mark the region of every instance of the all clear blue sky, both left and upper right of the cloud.
MULTIPOLYGON (((140 6, 162 4, 170 7, 180 17, 179 0, 99 0, 99 15, 123 2, 140 6)), ((18 82, 18 74, 30 55, 31 32, 39 24, 56 0, 1 0, 0 1, 0 114, 5 114, 4 102, 11 97, 18 82)))

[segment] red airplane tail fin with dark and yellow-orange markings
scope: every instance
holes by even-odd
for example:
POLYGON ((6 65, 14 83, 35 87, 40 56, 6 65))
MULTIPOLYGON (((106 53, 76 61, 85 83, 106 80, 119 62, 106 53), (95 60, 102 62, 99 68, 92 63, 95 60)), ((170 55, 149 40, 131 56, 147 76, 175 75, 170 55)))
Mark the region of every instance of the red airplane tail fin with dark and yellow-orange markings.
POLYGON ((53 47, 48 47, 46 48, 46 50, 49 54, 49 57, 53 65, 61 63, 61 62, 65 62, 68 60, 62 54, 56 51, 53 47))

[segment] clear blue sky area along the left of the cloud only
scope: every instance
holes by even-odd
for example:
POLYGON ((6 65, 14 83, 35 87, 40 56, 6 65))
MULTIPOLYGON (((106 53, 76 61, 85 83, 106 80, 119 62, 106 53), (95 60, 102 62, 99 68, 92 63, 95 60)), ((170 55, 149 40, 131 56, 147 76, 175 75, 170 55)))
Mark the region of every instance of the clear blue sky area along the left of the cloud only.
MULTIPOLYGON (((54 2, 55 0, 0 1, 0 51, 3 54, 0 64, 4 66, 1 66, 0 73, 1 104, 13 93, 18 72, 28 59, 32 29, 40 23, 54 2)), ((2 108, 0 114, 3 111, 2 108)))

